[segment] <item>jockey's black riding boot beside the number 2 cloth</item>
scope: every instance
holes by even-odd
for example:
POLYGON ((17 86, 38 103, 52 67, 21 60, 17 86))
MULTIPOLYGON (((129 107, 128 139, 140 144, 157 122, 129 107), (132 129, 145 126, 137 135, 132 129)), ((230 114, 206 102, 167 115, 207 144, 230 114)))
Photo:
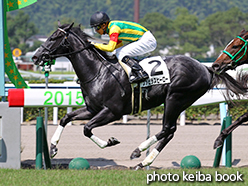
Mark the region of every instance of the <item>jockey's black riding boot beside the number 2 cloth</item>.
POLYGON ((137 63, 134 59, 130 58, 129 56, 125 56, 122 59, 122 62, 127 64, 132 69, 129 78, 130 83, 139 83, 149 78, 148 74, 143 70, 139 63, 137 63))

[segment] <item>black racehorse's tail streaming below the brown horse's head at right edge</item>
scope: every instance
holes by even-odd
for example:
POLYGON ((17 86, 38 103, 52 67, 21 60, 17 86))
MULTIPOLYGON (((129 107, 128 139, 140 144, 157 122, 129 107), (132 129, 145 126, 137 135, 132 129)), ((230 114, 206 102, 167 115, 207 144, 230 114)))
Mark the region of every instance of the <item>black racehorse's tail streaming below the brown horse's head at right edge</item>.
POLYGON ((224 84, 226 86, 224 97, 227 102, 233 103, 232 100, 235 99, 234 95, 237 99, 240 99, 241 96, 248 93, 247 80, 248 74, 244 74, 243 72, 237 74, 236 80, 226 72, 221 74, 213 73, 211 88, 218 84, 224 84))

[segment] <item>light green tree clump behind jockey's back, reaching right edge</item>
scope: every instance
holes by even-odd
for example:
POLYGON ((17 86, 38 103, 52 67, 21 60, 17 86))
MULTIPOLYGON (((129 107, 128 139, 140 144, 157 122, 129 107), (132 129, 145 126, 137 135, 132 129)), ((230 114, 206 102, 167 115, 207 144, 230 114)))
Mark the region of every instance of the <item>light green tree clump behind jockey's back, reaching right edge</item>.
MULTIPOLYGON (((148 13, 140 23, 152 31, 157 38, 159 50, 169 49, 169 55, 190 54, 196 59, 216 58, 219 52, 247 25, 248 14, 238 8, 217 12, 199 21, 186 8, 178 8, 175 20, 161 13, 148 13), (215 53, 209 56, 210 45, 215 53)), ((212 60, 213 60, 212 59, 212 60)))

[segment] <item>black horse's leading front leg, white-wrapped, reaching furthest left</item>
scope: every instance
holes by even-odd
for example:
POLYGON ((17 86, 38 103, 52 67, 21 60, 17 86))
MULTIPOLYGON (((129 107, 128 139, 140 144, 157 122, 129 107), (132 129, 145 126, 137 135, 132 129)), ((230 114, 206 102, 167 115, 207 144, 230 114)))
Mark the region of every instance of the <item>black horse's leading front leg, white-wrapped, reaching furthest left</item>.
POLYGON ((67 125, 67 123, 74 120, 87 120, 91 119, 94 115, 87 110, 87 107, 79 108, 73 112, 67 113, 61 120, 60 124, 57 127, 53 137, 51 139, 50 147, 50 157, 53 158, 58 153, 57 144, 60 140, 61 134, 67 125))

